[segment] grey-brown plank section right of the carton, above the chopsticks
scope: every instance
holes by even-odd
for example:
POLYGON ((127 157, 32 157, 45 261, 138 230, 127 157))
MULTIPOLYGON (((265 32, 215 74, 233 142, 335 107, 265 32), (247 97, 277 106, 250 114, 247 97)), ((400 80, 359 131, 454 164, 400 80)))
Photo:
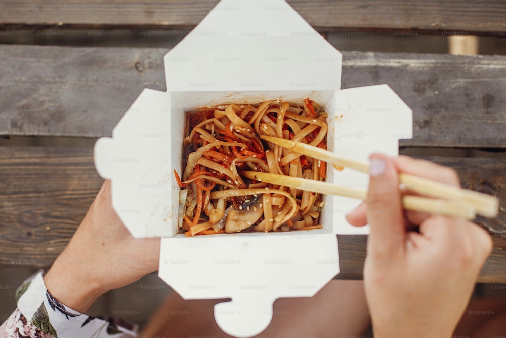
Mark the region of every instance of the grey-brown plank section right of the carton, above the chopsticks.
POLYGON ((342 88, 386 83, 413 110, 401 146, 506 147, 506 57, 343 53, 342 88))

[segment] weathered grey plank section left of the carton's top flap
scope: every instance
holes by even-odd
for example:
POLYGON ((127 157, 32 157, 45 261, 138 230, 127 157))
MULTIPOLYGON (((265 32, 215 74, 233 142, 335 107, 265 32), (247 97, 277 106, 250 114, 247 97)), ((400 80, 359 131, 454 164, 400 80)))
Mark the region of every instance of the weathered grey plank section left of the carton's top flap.
POLYGON ((144 88, 166 90, 166 49, 0 47, 0 134, 111 135, 144 88))

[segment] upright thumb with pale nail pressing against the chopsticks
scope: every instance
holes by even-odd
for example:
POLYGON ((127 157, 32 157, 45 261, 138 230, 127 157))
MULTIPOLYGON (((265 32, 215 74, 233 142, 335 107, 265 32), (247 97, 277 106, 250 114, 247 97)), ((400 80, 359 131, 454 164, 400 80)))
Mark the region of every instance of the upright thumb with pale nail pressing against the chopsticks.
POLYGON ((404 247, 406 234, 399 178, 393 159, 383 154, 369 157, 367 220, 371 227, 369 252, 389 255, 404 247))

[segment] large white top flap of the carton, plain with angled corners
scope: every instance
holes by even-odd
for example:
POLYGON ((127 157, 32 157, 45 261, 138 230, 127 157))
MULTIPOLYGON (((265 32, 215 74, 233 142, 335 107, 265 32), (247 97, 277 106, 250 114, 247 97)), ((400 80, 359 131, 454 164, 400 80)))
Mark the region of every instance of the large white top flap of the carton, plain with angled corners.
POLYGON ((164 61, 167 91, 317 91, 341 84, 341 53, 284 0, 222 0, 164 61))

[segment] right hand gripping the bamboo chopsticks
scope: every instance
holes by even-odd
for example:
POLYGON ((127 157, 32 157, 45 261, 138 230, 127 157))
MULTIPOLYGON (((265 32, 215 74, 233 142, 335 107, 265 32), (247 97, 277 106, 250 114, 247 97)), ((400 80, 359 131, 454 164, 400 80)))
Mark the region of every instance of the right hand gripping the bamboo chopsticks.
POLYGON ((463 218, 403 211, 399 172, 460 186, 450 168, 371 155, 367 202, 347 219, 354 226, 370 224, 364 287, 374 336, 449 337, 492 240, 463 218), (409 230, 413 225, 419 233, 409 230))

